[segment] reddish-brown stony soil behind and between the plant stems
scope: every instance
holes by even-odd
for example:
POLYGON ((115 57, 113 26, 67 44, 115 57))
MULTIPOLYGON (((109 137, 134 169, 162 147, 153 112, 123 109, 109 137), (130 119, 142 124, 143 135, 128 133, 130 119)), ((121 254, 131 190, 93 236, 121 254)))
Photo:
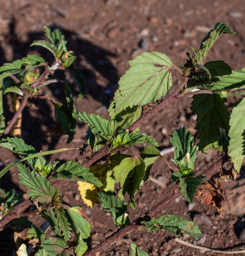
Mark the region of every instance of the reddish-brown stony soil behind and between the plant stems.
MULTIPOLYGON (((83 99, 76 101, 77 110, 99 114, 109 118, 107 108, 117 89, 120 76, 130 67, 128 61, 145 51, 164 52, 175 65, 183 65, 187 58, 185 52, 190 46, 198 49, 200 42, 217 22, 225 22, 237 35, 222 36, 208 55, 209 60, 224 60, 232 69, 245 67, 245 5, 243 0, 217 1, 179 1, 179 0, 0 0, 0 64, 12 62, 36 54, 52 63, 52 55, 40 47, 29 47, 33 40, 43 39, 43 25, 51 29, 59 28, 68 41, 68 49, 77 56, 77 68, 85 77, 87 92, 83 99)), ((77 99, 78 90, 69 74, 55 73, 59 79, 68 79, 77 99)), ((173 88, 180 77, 173 72, 173 88)), ((59 85, 52 84, 44 93, 64 102, 63 91, 59 85)), ((239 97, 228 98, 228 109, 239 97)), ((6 95, 5 114, 7 121, 13 116, 11 97, 6 95), (7 103, 10 103, 8 105, 7 103)), ((198 142, 194 130, 195 116, 189 109, 191 98, 174 102, 162 109, 141 125, 141 132, 153 136, 159 149, 171 147, 169 143, 172 129, 185 126, 198 142)), ((62 147, 81 147, 85 142, 87 126, 77 123, 77 132, 73 141, 67 145, 67 135, 46 138, 44 132, 55 125, 54 110, 47 101, 36 103, 38 108, 25 109, 23 112, 22 138, 32 144, 37 151, 47 151, 62 147)), ((137 147, 141 150, 141 146, 137 147)), ((0 148, 2 167, 17 159, 16 155, 0 148)), ((208 168, 222 154, 209 150, 208 154, 198 152, 195 168, 197 173, 208 168)), ((173 153, 165 155, 170 161, 173 153)), ((66 151, 51 155, 48 160, 83 159, 77 151, 66 151)), ((179 238, 193 244, 216 250, 244 250, 245 248, 245 205, 244 172, 235 181, 225 184, 224 206, 227 210, 222 217, 215 208, 200 205, 197 201, 188 204, 179 197, 165 207, 157 216, 165 213, 180 215, 194 220, 202 231, 202 239, 192 239, 186 235, 179 238)), ((136 210, 130 210, 130 220, 146 212, 163 200, 171 191, 170 171, 163 162, 156 162, 151 169, 151 176, 162 176, 163 185, 149 181, 136 194, 136 210)), ((12 168, 0 180, 0 187, 18 192, 24 187, 18 184, 17 170, 12 168)), ((112 218, 99 205, 89 208, 83 203, 77 190, 76 182, 66 182, 60 187, 62 200, 70 206, 80 206, 87 211, 94 226, 91 238, 87 239, 89 248, 104 240, 107 227, 115 229, 112 218), (100 216, 98 218, 98 216, 100 216)), ((26 196, 26 194, 25 194, 26 196)), ((156 217, 157 217, 156 216, 156 217)), ((43 220, 38 216, 30 218, 40 226, 43 220)), ((48 230, 48 235, 54 235, 48 230)), ((194 249, 175 241, 175 237, 166 231, 148 233, 145 230, 134 231, 125 236, 135 242, 142 250, 152 255, 221 255, 194 249)), ((0 232, 0 254, 14 255, 17 244, 14 243, 13 231, 9 228, 0 232)), ((36 248, 33 249, 35 252, 36 248)), ((117 242, 96 255, 128 255, 126 243, 117 242)), ((32 254, 34 255, 34 253, 32 254)), ((241 255, 241 254, 234 254, 241 255)))

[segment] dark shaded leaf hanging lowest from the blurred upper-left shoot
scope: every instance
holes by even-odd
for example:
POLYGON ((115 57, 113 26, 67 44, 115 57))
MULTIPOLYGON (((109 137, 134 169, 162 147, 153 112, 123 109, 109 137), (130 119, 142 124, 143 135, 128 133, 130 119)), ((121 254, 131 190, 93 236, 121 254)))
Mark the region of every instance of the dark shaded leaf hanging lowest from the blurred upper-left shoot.
MULTIPOLYGON (((63 134, 68 134, 69 137, 66 143, 70 143, 76 133, 76 120, 72 117, 72 106, 66 107, 62 103, 54 103, 55 120, 61 124, 63 134)), ((76 111, 76 110, 75 110, 76 111)))

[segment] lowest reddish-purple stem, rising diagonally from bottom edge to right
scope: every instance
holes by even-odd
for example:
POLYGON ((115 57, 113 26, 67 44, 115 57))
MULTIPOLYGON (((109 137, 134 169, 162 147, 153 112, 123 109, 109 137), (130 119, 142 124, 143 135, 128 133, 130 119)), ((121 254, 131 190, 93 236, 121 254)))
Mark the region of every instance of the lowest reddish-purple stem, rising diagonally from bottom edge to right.
MULTIPOLYGON (((207 170, 203 172, 203 175, 207 176, 211 174, 212 172, 219 171, 220 167, 227 162, 230 159, 228 155, 224 155, 221 159, 219 159, 217 162, 215 162, 212 166, 210 166, 207 170)), ((92 256, 96 254, 97 252, 103 250, 105 247, 110 246, 111 244, 115 243, 115 241, 118 241, 122 236, 126 235, 127 233, 133 231, 133 230, 139 230, 139 228, 142 226, 141 221, 144 220, 144 216, 152 217, 154 214, 159 212, 161 209, 163 209, 165 206, 173 202, 176 198, 181 196, 180 188, 175 186, 175 183, 173 185, 171 193, 164 198, 160 203, 156 204, 153 208, 151 208, 149 211, 147 211, 143 217, 139 217, 136 220, 134 220, 132 223, 130 223, 127 227, 123 229, 119 229, 115 233, 113 233, 111 236, 109 236, 107 239, 105 239, 102 243, 98 244, 94 248, 90 249, 89 251, 85 252, 83 256, 92 256)), ((149 220, 147 220, 149 221, 149 220)))

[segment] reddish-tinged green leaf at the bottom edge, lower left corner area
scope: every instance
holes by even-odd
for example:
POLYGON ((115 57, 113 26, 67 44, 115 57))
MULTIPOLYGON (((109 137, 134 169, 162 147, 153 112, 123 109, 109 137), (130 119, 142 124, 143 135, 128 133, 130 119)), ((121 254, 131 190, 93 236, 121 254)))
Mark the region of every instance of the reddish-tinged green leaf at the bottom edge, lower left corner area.
MULTIPOLYGON (((38 253, 39 255, 44 255, 41 254, 42 250, 47 251, 48 256, 56 256, 56 255, 61 255, 62 252, 65 251, 66 248, 66 243, 57 238, 57 237, 50 237, 49 240, 43 241, 43 244, 38 246, 38 253)), ((36 256, 36 254, 35 254, 36 256)))

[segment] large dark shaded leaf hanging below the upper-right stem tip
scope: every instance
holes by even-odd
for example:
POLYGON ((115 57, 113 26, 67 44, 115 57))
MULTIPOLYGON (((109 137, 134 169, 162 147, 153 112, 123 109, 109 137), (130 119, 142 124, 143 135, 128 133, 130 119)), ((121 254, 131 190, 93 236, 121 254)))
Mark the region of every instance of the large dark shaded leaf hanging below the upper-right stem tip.
POLYGON ((198 149, 206 153, 208 148, 218 147, 220 127, 229 130, 229 112, 218 94, 194 95, 191 105, 190 109, 197 114, 198 149))

